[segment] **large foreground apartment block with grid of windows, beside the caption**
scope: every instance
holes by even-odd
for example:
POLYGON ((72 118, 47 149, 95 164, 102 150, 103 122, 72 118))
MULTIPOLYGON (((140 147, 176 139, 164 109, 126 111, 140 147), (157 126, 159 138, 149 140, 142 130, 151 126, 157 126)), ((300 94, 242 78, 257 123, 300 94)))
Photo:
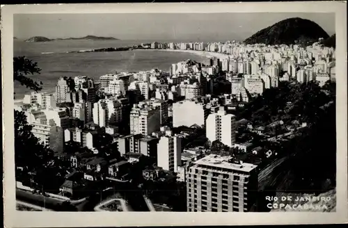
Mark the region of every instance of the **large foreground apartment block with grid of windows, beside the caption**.
POLYGON ((247 212, 256 202, 257 166, 214 154, 187 168, 187 211, 247 212))

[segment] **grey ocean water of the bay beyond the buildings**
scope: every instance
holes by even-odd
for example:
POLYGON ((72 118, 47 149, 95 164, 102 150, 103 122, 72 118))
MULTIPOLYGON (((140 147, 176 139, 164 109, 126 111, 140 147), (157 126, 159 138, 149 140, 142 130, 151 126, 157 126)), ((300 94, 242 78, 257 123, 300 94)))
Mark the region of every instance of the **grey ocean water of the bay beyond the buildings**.
MULTIPOLYGON (((85 75, 97 80, 104 74, 114 72, 139 72, 153 68, 168 71, 171 63, 187 59, 207 63, 205 56, 171 51, 133 50, 65 53, 66 51, 104 47, 129 47, 142 42, 149 41, 60 40, 53 42, 23 42, 14 40, 13 54, 14 56, 26 56, 26 58, 30 58, 38 63, 38 67, 42 69, 41 73, 30 77, 34 81, 42 81, 42 92, 54 92, 56 82, 61 76, 74 77, 85 75)), ((25 94, 31 92, 31 90, 17 82, 15 82, 14 90, 15 99, 22 99, 25 94)))

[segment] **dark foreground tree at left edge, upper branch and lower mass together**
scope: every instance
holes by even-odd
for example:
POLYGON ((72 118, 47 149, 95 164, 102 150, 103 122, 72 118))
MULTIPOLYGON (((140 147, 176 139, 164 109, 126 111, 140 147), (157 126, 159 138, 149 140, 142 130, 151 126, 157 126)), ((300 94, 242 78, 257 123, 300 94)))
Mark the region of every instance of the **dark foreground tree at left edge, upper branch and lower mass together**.
MULTIPOLYGON (((27 75, 40 74, 40 71, 37 63, 24 56, 13 58, 13 80, 35 92, 42 90, 42 82, 35 82, 27 75)), ((42 145, 31 132, 33 127, 27 122, 25 113, 15 110, 14 115, 15 164, 17 167, 25 167, 29 172, 35 173, 33 179, 43 190, 48 180, 57 180, 56 177, 62 170, 55 165, 52 150, 42 145)), ((52 181, 52 184, 56 184, 56 181, 52 181)))

